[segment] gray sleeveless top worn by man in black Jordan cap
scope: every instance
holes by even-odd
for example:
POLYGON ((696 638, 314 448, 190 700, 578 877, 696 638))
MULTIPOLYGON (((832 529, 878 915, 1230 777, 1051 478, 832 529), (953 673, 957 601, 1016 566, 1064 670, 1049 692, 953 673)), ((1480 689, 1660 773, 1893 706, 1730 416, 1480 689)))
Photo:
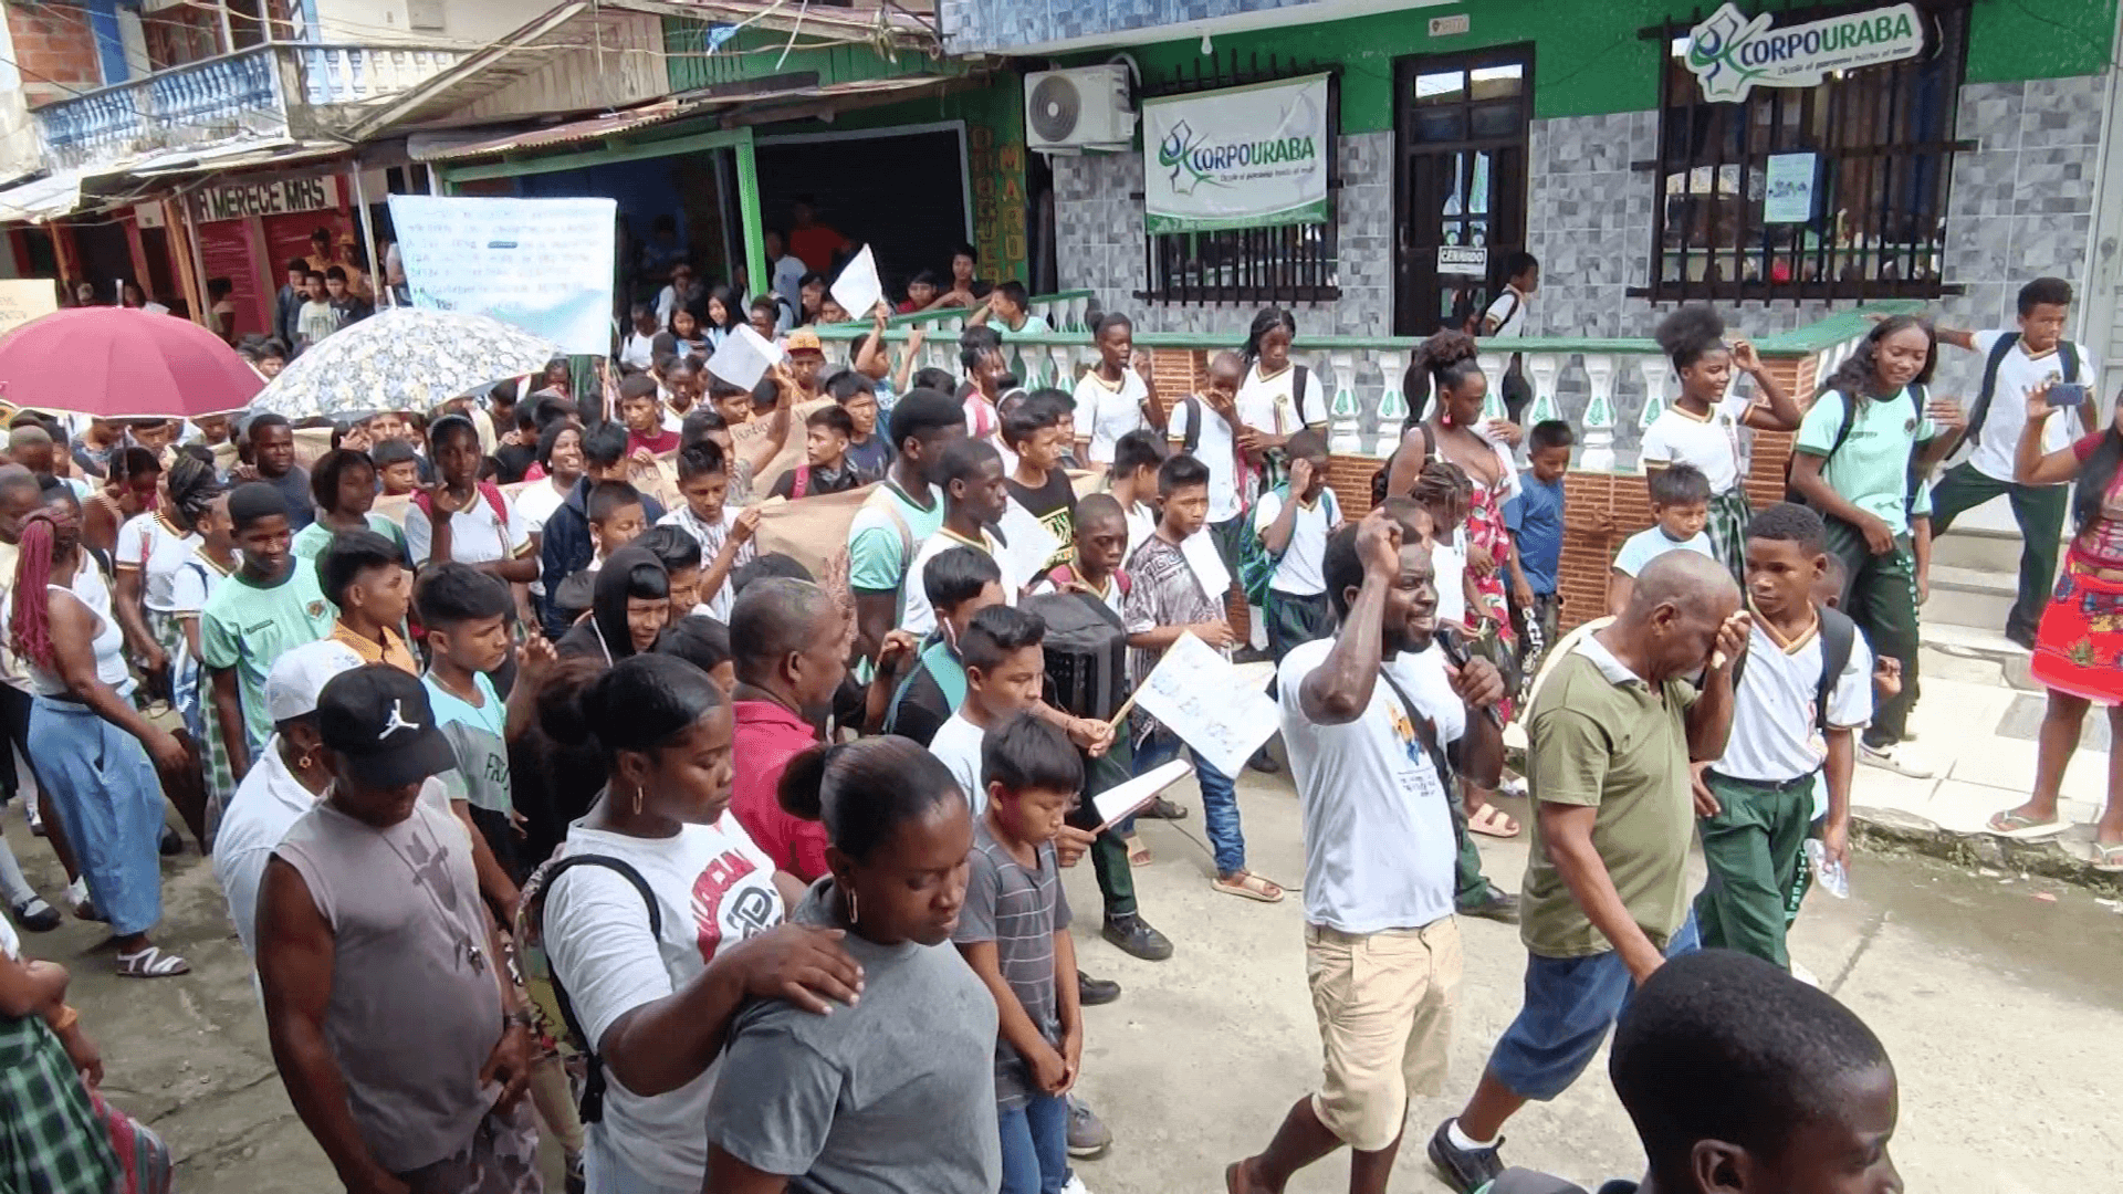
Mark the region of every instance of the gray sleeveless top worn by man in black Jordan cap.
POLYGON ((420 801, 389 826, 325 801, 274 856, 331 926, 325 1039, 361 1139, 391 1173, 463 1149, 499 1088, 480 1067, 501 1039, 501 988, 463 824, 420 801))

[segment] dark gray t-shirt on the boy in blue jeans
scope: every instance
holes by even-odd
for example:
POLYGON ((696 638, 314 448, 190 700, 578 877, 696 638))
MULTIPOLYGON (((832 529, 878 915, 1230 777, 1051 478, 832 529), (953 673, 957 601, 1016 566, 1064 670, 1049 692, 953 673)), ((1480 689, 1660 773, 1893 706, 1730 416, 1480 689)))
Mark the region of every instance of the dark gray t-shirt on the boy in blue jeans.
MULTIPOLYGON (((1011 848, 996 841, 987 820, 972 822, 972 854, 966 856, 966 907, 957 914, 960 945, 996 943, 1002 982, 1049 1045, 1062 1047, 1062 1016, 1055 1007, 1055 931, 1068 928, 1068 894, 1055 865, 1053 843, 1042 843, 1038 867, 1025 869, 1011 848)), ((1074 975, 1070 975, 1074 977, 1074 975)), ((1023 1107, 1036 1086, 1032 1069, 1015 1045, 996 1035, 996 1105, 1023 1107)))

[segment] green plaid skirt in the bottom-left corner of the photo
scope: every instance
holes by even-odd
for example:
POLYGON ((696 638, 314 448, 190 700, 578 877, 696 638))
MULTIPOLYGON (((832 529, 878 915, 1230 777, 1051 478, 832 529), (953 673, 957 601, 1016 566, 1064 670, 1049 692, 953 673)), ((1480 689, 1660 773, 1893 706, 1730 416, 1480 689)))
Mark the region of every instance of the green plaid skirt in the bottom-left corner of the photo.
POLYGON ((45 1020, 0 1018, 0 1190, 110 1194, 117 1152, 66 1045, 45 1020))

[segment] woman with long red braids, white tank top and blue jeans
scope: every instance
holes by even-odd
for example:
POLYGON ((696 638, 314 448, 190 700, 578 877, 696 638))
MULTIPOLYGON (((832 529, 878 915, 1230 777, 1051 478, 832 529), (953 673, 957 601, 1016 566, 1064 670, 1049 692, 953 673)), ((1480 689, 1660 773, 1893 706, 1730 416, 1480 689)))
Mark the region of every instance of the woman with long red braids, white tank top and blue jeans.
POLYGON ((125 633, 110 616, 102 578, 83 576, 81 508, 68 491, 21 527, 6 644, 34 688, 30 741, 36 775, 74 846, 96 909, 117 939, 119 975, 187 973, 185 958, 151 943, 161 920, 161 782, 155 765, 183 771, 183 744, 132 705, 125 633))

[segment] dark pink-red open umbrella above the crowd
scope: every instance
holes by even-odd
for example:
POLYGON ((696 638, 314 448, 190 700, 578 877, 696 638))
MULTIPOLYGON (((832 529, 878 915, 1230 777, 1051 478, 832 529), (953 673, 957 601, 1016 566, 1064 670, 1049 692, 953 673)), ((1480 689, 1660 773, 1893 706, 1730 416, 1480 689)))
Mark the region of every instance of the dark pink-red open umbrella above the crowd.
POLYGON ((174 314, 79 306, 0 336, 0 402, 96 419, 242 410, 265 378, 219 336, 174 314))

